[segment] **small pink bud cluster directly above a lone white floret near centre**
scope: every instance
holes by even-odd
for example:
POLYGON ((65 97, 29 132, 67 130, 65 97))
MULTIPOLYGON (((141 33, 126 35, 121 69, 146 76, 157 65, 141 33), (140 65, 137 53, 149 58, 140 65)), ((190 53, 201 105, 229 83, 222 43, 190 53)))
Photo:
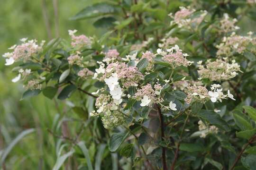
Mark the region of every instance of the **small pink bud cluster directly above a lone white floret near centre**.
POLYGON ((135 98, 137 101, 141 101, 141 99, 147 96, 148 99, 151 100, 151 103, 155 102, 157 100, 156 95, 155 95, 155 90, 152 88, 150 84, 144 85, 139 89, 133 98, 135 98))

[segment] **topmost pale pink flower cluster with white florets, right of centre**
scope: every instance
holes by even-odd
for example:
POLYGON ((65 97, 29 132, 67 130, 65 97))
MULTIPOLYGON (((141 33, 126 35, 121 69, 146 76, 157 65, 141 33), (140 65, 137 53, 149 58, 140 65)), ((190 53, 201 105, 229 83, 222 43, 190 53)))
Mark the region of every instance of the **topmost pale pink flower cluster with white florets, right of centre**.
POLYGON ((177 11, 174 16, 172 13, 169 14, 169 17, 172 17, 174 21, 171 22, 178 25, 178 27, 187 27, 191 28, 192 25, 199 25, 204 17, 207 15, 207 11, 200 11, 199 16, 193 16, 195 9, 180 7, 180 10, 177 11), (192 17, 193 16, 193 17, 192 17))

